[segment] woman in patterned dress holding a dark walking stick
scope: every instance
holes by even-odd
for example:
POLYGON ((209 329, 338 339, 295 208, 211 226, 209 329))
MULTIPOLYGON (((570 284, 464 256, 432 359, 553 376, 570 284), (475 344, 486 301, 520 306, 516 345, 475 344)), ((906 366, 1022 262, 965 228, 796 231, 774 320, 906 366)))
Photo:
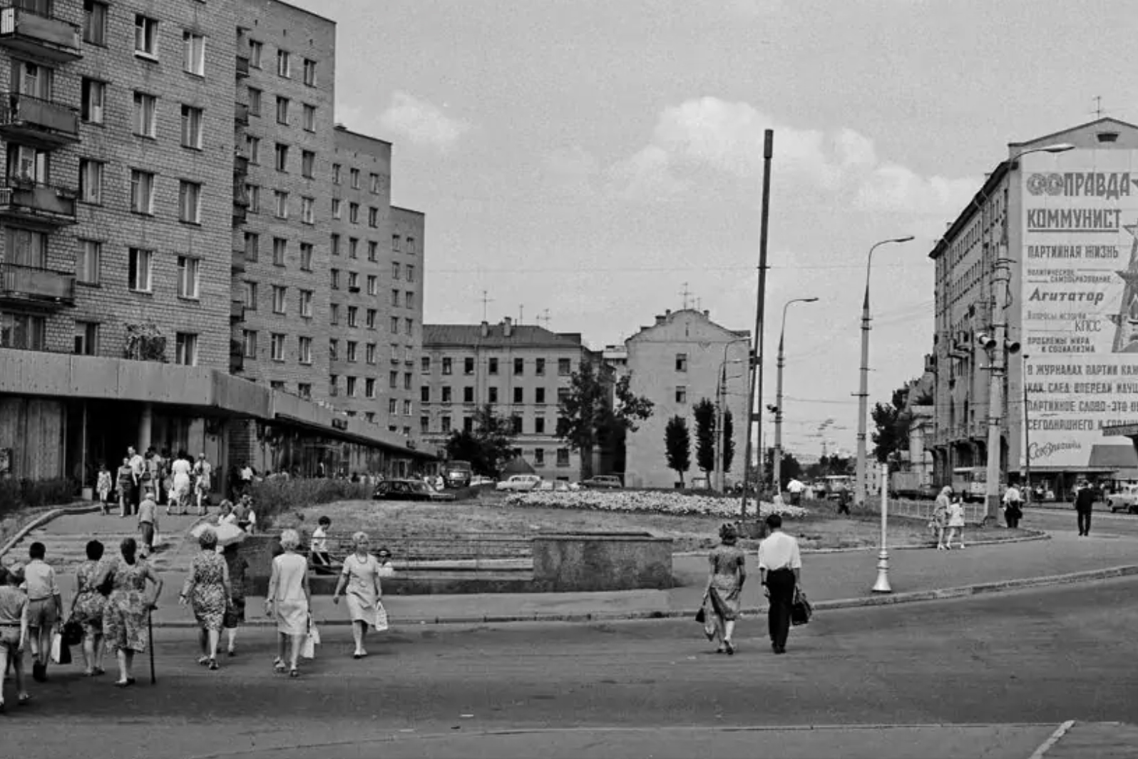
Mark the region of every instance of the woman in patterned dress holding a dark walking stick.
POLYGON ((118 687, 134 685, 131 668, 134 654, 146 652, 147 616, 162 594, 162 578, 145 559, 138 558, 138 543, 125 538, 121 546, 122 559, 105 562, 94 586, 100 587, 109 576, 112 591, 102 610, 102 635, 107 647, 118 659, 118 687), (147 581, 154 593, 146 594, 147 581))

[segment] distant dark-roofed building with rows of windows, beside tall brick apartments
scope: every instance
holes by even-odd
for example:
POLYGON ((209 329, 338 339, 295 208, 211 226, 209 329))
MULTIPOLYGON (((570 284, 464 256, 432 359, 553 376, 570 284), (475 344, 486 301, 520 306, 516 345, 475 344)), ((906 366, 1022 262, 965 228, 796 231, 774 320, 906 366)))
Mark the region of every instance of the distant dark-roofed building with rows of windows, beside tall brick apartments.
MULTIPOLYGON (((422 438, 442 447, 454 430, 473 428, 489 404, 513 422, 514 455, 549 480, 579 480, 578 452, 556 436, 558 403, 582 362, 603 371, 601 355, 579 333, 534 325, 427 324, 420 385, 422 438)), ((607 377, 607 374, 605 374, 607 377)), ((600 451, 593 452, 594 470, 600 451)))

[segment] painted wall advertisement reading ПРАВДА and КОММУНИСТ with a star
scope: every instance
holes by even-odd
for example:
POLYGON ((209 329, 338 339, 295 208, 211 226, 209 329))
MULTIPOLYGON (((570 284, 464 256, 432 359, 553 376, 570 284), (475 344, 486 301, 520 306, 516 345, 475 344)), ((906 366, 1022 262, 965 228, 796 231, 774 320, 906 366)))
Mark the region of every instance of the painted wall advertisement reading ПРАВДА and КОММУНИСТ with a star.
MULTIPOLYGON (((1032 468, 1110 467, 1138 420, 1138 150, 1021 159, 1032 468)), ((1022 462, 1021 462, 1022 463, 1022 462)))

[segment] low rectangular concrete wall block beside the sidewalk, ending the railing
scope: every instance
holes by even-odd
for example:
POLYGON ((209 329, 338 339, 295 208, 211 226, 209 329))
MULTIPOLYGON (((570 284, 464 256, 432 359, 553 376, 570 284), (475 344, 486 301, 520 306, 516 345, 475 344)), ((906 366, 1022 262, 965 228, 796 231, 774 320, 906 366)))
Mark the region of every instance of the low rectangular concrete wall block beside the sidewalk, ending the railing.
POLYGON ((666 591, 673 586, 671 538, 648 533, 534 537, 534 591, 666 591))

